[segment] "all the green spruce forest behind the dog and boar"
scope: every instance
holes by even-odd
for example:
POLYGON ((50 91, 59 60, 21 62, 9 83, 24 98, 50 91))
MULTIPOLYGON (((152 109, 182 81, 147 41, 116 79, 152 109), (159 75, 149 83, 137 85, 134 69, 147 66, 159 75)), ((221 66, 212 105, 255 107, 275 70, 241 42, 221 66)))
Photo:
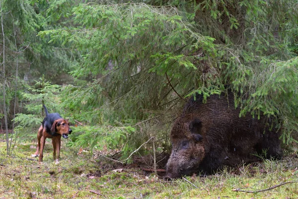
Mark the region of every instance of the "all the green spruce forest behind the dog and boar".
POLYGON ((7 154, 36 139, 42 104, 75 125, 70 146, 127 160, 154 137, 168 153, 185 100, 227 89, 241 115, 273 115, 297 142, 297 0, 0 0, 0 11, 7 154))

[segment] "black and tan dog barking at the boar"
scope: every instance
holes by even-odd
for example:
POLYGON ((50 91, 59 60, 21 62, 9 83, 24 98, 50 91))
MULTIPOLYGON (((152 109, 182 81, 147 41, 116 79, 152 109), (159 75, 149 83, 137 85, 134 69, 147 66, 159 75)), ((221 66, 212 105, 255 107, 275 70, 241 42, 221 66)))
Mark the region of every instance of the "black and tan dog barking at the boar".
POLYGON ((42 162, 46 138, 51 138, 54 149, 53 157, 54 160, 56 160, 56 163, 59 163, 61 136, 67 139, 68 135, 72 133, 72 129, 70 128, 70 122, 67 119, 63 119, 59 113, 49 114, 45 105, 44 108, 46 117, 44 118, 42 125, 39 127, 37 134, 37 148, 36 152, 32 154, 32 157, 39 156, 39 162, 42 162))

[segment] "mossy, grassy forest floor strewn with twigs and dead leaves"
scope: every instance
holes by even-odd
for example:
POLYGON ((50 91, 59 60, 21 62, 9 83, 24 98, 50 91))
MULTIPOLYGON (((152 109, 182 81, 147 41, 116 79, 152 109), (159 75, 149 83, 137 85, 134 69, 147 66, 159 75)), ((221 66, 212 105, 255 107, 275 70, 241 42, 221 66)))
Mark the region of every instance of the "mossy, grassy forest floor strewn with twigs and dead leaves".
POLYGON ((17 143, 8 157, 3 136, 0 199, 298 199, 297 152, 280 161, 266 160, 225 168, 215 175, 165 181, 142 170, 146 164, 108 164, 89 152, 66 147, 64 141, 57 165, 52 159, 51 143, 46 143, 41 164, 31 157, 36 150, 33 142, 17 143))

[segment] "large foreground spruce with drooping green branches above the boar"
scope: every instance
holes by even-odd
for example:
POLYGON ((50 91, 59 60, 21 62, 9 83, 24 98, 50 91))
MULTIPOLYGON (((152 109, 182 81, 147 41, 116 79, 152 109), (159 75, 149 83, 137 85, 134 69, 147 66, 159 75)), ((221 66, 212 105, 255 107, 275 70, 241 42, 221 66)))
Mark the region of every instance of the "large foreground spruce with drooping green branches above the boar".
MULTIPOLYGON (((93 79, 64 91, 62 106, 75 118, 130 126, 163 114, 160 121, 168 124, 174 115, 165 114, 180 107, 181 98, 200 93, 206 100, 230 89, 235 107, 242 108, 239 116, 276 116, 283 121, 283 141, 293 141, 297 0, 70 2, 48 2, 47 13, 59 8, 53 17, 70 16, 75 26, 38 35, 79 51, 82 59, 71 74, 93 79), (64 9, 71 13, 63 15, 64 9)), ((144 142, 152 131, 158 129, 128 144, 144 142)))

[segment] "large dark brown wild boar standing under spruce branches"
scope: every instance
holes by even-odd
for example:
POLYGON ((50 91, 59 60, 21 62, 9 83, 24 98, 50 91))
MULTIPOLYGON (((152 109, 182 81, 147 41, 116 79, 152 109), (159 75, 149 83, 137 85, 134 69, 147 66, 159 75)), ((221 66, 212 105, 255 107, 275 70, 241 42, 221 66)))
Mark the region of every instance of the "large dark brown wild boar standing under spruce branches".
POLYGON ((231 92, 212 95, 206 103, 202 95, 191 97, 170 132, 172 152, 165 178, 211 174, 223 165, 253 162, 255 154, 281 158, 281 130, 275 120, 264 115, 253 118, 250 113, 239 117, 239 113, 231 92))

